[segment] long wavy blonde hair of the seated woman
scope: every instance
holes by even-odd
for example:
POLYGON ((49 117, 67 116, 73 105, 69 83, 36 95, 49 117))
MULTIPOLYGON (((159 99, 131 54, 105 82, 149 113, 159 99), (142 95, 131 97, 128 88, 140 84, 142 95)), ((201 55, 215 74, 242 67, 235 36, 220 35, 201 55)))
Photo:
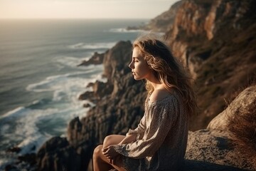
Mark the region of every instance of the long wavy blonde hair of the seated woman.
MULTIPOLYGON (((164 40, 154 34, 139 36, 133 43, 133 48, 138 47, 144 59, 154 71, 167 90, 175 88, 181 93, 183 102, 187 106, 189 115, 196 113, 196 96, 191 86, 191 77, 183 65, 174 58, 171 49, 164 40)), ((148 94, 154 91, 149 81, 146 81, 148 94)))

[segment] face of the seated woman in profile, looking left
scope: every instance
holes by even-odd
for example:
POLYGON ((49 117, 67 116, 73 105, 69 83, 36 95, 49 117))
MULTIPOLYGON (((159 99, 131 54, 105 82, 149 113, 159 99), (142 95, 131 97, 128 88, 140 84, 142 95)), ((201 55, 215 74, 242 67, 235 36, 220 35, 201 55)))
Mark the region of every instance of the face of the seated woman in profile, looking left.
POLYGON ((129 64, 129 68, 132 69, 132 75, 135 80, 148 79, 153 73, 138 47, 133 49, 132 62, 129 64))

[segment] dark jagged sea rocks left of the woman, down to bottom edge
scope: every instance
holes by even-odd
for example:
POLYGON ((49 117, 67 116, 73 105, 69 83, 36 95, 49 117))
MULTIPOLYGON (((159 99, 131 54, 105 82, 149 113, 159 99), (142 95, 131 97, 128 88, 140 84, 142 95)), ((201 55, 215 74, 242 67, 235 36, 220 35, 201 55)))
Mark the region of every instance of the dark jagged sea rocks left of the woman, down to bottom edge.
POLYGON ((97 81, 91 85, 92 92, 80 95, 80 100, 91 100, 95 106, 87 117, 70 121, 67 138, 52 138, 41 147, 38 170, 87 170, 93 149, 106 135, 125 134, 137 126, 144 114, 146 91, 142 81, 132 78, 131 56, 130 41, 120 41, 104 53, 107 83, 97 81))

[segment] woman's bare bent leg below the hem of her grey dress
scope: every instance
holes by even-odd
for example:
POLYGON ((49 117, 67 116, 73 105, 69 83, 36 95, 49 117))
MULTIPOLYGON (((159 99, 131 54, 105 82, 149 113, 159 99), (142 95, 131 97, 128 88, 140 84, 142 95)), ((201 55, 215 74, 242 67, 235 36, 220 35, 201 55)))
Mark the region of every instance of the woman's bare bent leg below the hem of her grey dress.
POLYGON ((110 170, 111 168, 115 167, 117 170, 122 170, 122 162, 117 162, 117 165, 112 165, 107 157, 102 154, 102 148, 107 147, 109 145, 116 145, 119 142, 121 142, 125 138, 124 135, 108 135, 103 145, 98 145, 94 152, 92 157, 93 162, 93 170, 94 171, 104 171, 104 170, 110 170))

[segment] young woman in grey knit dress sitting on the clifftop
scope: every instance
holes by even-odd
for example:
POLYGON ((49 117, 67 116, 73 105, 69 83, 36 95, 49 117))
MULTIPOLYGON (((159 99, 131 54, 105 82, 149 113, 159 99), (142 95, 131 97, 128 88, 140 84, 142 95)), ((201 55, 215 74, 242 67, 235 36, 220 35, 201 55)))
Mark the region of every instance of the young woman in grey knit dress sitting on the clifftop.
POLYGON ((135 80, 146 80, 144 116, 127 135, 109 135, 95 148, 93 168, 178 170, 196 109, 191 80, 164 41, 149 36, 134 41, 129 68, 135 80))

